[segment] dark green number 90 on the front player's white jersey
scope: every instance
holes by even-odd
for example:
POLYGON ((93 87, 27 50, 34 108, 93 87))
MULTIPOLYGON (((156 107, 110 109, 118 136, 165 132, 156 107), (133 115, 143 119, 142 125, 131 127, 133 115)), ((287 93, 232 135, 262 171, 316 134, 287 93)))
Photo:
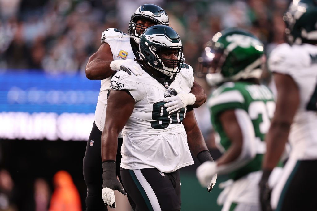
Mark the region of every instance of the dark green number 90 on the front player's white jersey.
POLYGON ((166 111, 166 107, 164 107, 165 102, 156 102, 152 107, 152 119, 155 121, 151 121, 151 126, 154 129, 164 129, 168 127, 168 124, 180 124, 184 120, 184 113, 186 112, 185 108, 179 109, 170 114, 166 111))

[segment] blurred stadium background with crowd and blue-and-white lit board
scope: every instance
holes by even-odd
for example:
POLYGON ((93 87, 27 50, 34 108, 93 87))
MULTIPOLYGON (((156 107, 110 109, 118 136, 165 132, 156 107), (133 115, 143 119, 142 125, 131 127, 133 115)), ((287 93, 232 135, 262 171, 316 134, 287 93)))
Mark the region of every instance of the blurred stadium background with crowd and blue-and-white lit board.
MULTIPOLYGON (((144 3, 166 10, 193 67, 204 43, 225 28, 253 32, 267 55, 283 42, 287 0, 0 0, 0 210, 47 210, 59 170, 73 177, 84 210, 82 159, 100 89, 100 81, 85 77, 85 65, 99 48, 101 33, 107 28, 126 32, 144 3)), ((263 78, 268 83, 269 73, 263 78)), ((209 94, 204 80, 196 80, 209 94)), ((205 104, 195 114, 218 157, 205 104)), ((181 171, 182 210, 220 210, 217 185, 226 177, 208 193, 197 182, 195 163, 181 171)), ((116 210, 128 209, 120 206, 116 210)))

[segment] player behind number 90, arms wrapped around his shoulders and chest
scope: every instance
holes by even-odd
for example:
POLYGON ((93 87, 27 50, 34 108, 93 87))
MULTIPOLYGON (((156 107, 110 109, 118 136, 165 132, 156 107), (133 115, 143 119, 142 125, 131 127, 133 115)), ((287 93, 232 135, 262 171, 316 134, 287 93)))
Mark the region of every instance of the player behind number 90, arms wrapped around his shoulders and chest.
MULTIPOLYGON (((101 87, 95 111, 95 121, 90 133, 86 153, 83 160, 83 174, 87 185, 86 211, 107 210, 107 207, 100 196, 102 187, 102 165, 101 165, 101 132, 106 118, 107 95, 110 90, 110 79, 120 66, 125 64, 132 66, 133 75, 142 75, 143 70, 133 61, 139 58, 139 36, 143 31, 156 24, 168 25, 169 19, 164 9, 153 4, 140 6, 131 17, 128 33, 123 33, 118 29, 109 28, 102 33, 101 46, 88 60, 86 66, 86 76, 91 80, 100 80, 101 87), (139 71, 138 71, 139 70, 139 71), (99 177, 100 176, 100 177, 99 177)), ((198 107, 206 101, 206 95, 202 87, 194 82, 191 93, 179 93, 171 98, 171 102, 165 104, 169 106, 168 111, 179 109, 191 105, 198 107)), ((118 137, 117 173, 120 178, 121 160, 121 134, 118 137)), ((133 205, 130 197, 129 202, 133 205)))

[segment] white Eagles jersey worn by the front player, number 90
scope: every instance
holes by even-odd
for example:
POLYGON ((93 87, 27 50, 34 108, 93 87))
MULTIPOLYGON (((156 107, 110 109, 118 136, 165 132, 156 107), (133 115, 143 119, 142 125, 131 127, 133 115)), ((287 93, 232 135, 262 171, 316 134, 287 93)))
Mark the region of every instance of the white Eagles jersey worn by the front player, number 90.
POLYGON ((111 79, 113 90, 128 91, 135 100, 133 112, 122 130, 122 168, 173 172, 194 163, 182 124, 186 108, 169 114, 164 107, 164 99, 175 95, 170 88, 189 93, 193 87, 193 70, 189 65, 183 67, 176 77, 161 83, 146 72, 135 76, 118 71, 111 79))

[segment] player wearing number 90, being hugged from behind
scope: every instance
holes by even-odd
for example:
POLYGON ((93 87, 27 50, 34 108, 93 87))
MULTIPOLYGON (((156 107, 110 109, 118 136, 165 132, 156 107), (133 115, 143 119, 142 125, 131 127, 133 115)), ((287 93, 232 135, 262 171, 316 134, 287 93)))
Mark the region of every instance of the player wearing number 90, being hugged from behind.
MULTIPOLYGON (((118 71, 111 79, 101 144, 102 197, 115 207, 113 191, 125 194, 126 190, 136 210, 177 211, 181 208, 179 169, 194 163, 190 149, 201 162, 212 160, 193 108, 169 112, 165 107, 173 96, 192 89, 193 70, 183 63, 182 42, 171 27, 147 28, 140 37, 139 49, 138 63, 145 73, 135 76, 118 71), (125 190, 115 168, 121 130, 120 171, 125 190), (203 161, 200 156, 205 157, 203 161)), ((122 68, 126 70, 125 65, 122 68)), ((216 177, 211 180, 213 186, 216 177)))

